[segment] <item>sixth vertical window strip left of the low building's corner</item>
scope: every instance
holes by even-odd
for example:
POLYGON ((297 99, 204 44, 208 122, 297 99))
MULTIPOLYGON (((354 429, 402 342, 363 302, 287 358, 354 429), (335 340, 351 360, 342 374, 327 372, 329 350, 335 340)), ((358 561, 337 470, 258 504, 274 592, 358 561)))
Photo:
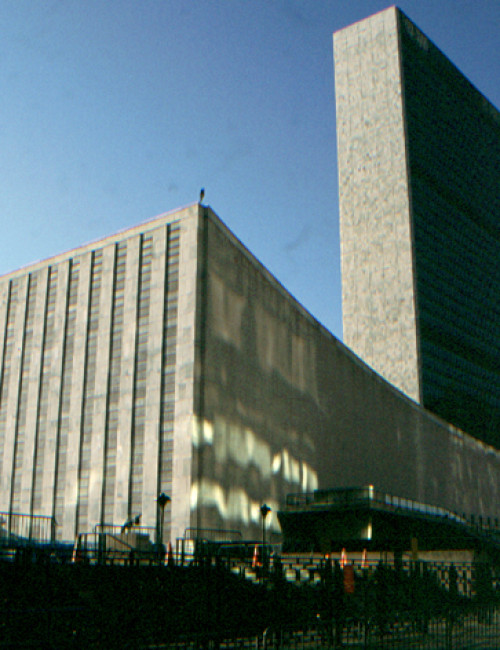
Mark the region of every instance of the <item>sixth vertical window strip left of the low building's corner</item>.
POLYGON ((45 461, 45 437, 50 397, 50 367, 54 346, 55 303, 57 292, 57 267, 49 266, 49 279, 45 303, 44 332, 42 338, 42 363, 40 366, 40 391, 35 432, 35 460, 33 463, 33 489, 31 511, 42 514, 42 473, 45 461))

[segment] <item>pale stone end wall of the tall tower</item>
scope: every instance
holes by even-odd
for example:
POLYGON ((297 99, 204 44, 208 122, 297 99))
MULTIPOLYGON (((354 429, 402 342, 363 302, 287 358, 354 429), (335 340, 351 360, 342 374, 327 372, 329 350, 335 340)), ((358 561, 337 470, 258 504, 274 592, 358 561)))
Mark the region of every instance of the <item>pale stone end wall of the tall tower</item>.
POLYGON ((398 10, 334 35, 344 342, 420 401, 398 10))

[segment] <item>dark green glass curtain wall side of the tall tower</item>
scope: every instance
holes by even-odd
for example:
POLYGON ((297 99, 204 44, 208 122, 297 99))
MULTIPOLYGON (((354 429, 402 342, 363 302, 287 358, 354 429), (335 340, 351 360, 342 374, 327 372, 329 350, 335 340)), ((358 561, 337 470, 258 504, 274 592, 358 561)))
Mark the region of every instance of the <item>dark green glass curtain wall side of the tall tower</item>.
POLYGON ((422 401, 500 447, 500 113, 399 17, 422 401))

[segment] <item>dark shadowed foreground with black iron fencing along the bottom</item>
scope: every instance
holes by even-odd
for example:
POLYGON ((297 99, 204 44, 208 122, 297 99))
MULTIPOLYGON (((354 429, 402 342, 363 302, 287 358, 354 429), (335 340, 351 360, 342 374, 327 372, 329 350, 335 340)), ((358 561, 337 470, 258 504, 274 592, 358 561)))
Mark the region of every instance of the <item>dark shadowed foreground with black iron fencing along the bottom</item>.
POLYGON ((0 648, 500 648, 491 562, 341 562, 236 542, 141 554, 93 535, 69 555, 0 563, 0 648))

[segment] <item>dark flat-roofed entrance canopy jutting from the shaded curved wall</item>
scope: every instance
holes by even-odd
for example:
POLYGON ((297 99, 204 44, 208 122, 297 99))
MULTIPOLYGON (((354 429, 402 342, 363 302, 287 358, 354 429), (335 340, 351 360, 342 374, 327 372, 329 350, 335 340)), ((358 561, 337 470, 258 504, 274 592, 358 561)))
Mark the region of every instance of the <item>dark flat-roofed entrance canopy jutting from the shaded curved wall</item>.
POLYGON ((290 495, 278 519, 284 550, 410 550, 415 544, 419 550, 458 550, 486 545, 500 554, 500 538, 496 541, 455 513, 371 486, 290 495))

